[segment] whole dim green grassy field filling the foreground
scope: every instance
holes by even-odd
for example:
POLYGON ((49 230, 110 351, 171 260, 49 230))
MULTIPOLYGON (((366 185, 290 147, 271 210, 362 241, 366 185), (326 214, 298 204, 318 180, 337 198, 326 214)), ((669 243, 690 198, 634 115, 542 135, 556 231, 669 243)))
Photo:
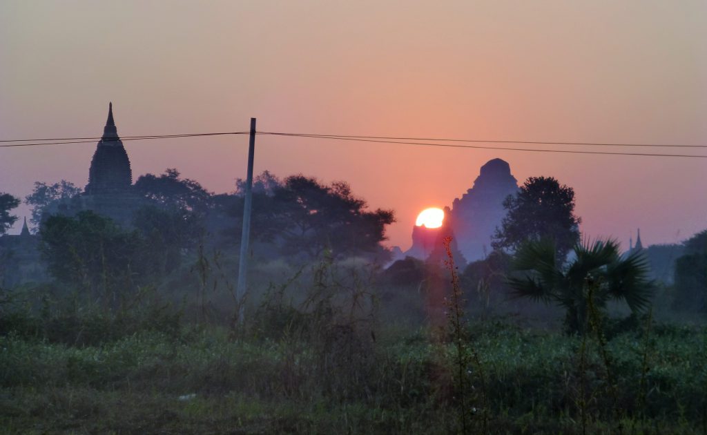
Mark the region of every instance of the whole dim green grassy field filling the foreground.
POLYGON ((464 392, 443 327, 294 309, 232 330, 168 309, 3 313, 0 433, 705 434, 707 332, 592 337, 470 321, 464 392), (483 373, 483 374, 481 374, 483 373), (486 403, 486 408, 483 404, 486 403))

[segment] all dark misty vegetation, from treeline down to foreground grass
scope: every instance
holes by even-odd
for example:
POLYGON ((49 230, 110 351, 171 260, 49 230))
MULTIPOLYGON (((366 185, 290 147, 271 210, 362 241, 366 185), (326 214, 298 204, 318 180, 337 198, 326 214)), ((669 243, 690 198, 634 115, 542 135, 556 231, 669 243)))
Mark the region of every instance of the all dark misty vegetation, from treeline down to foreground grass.
POLYGON ((0 433, 707 433, 706 233, 674 286, 553 224, 462 269, 451 240, 444 265, 384 268, 392 212, 264 173, 238 324, 240 192, 175 170, 136 187, 131 229, 44 216, 54 280, 1 290, 0 433))

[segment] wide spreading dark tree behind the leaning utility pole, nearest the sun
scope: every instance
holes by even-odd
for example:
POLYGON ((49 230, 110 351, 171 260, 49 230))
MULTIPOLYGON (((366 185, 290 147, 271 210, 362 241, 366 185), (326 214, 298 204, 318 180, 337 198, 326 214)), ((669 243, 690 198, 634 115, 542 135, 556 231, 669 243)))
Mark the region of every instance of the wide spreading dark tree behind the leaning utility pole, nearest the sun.
MULTIPOLYGON (((236 195, 218 197, 219 207, 231 219, 243 219, 243 186, 236 195)), ((368 211, 366 201, 354 196, 346 182, 324 185, 315 178, 293 175, 283 181, 265 172, 255 179, 252 237, 274 243, 276 250, 304 260, 330 250, 337 258, 382 254, 385 226, 391 210, 368 211)), ((228 233, 240 236, 233 228, 228 233)))

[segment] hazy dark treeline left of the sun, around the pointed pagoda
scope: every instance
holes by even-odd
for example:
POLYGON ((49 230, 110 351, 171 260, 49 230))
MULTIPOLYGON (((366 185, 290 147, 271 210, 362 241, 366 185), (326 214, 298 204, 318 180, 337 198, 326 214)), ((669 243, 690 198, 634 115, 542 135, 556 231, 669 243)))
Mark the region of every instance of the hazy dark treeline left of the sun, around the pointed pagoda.
MULTIPOLYGON (((25 198, 40 238, 42 260, 54 279, 98 296, 122 292, 165 277, 193 272, 199 257, 238 255, 245 183, 227 194, 209 192, 175 169, 146 174, 132 186, 132 223, 119 226, 105 216, 81 210, 81 190, 62 180, 35 183, 25 198)), ((16 221, 19 199, 0 197, 0 233, 16 221)), ((322 255, 390 257, 385 227, 391 210, 369 210, 346 182, 327 185, 316 178, 277 178, 265 171, 253 185, 252 262, 284 260, 296 265, 322 255)), ((235 278, 235 277, 233 277, 235 278)))

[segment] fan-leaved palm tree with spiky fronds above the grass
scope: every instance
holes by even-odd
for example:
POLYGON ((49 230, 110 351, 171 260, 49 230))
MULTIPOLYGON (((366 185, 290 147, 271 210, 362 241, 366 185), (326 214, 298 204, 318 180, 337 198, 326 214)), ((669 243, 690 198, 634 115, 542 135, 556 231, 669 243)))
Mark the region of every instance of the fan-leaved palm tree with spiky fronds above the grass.
POLYGON ((621 257, 616 240, 596 240, 576 244, 573 253, 567 265, 558 265, 554 243, 529 241, 513 259, 515 273, 508 284, 516 296, 566 308, 570 333, 585 331, 590 296, 597 310, 610 299, 625 301, 633 313, 648 306, 652 283, 640 252, 621 257))

